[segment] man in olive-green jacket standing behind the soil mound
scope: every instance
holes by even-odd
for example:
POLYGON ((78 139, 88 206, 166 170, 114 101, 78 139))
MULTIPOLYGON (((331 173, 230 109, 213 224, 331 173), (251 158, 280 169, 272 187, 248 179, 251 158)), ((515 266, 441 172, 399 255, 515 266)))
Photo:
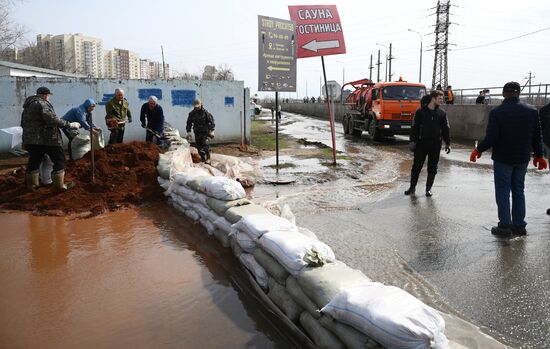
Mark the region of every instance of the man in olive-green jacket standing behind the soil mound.
POLYGON ((105 105, 105 122, 107 127, 111 131, 109 136, 109 144, 122 143, 124 140, 124 129, 126 126, 126 119, 128 122, 132 122, 132 113, 128 106, 128 100, 124 98, 124 90, 117 88, 115 95, 105 105))

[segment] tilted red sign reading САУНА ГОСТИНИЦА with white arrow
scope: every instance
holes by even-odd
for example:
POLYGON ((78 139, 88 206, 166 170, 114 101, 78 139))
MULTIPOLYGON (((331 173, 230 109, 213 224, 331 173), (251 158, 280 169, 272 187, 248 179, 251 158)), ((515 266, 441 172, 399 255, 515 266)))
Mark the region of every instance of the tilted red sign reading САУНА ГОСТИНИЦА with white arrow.
POLYGON ((296 21, 298 58, 346 53, 336 5, 289 6, 288 11, 296 21))

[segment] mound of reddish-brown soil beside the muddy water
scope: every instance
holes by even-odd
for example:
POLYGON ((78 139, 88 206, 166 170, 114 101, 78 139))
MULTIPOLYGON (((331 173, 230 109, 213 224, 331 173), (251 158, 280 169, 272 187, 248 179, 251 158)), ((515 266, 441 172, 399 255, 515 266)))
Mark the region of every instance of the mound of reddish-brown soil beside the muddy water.
POLYGON ((76 186, 55 193, 52 188, 25 188, 25 169, 0 176, 0 207, 34 211, 35 214, 99 214, 130 205, 163 200, 157 182, 157 145, 131 142, 107 145, 95 151, 95 183, 91 176, 91 153, 65 164, 65 182, 76 186))

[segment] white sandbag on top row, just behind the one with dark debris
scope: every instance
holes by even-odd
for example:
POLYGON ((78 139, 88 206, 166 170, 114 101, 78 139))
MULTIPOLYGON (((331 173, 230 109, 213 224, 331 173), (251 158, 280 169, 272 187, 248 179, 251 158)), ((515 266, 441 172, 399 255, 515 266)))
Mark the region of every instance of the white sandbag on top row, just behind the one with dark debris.
POLYGON ((298 233, 296 225, 271 213, 245 216, 234 227, 256 239, 272 231, 298 233))

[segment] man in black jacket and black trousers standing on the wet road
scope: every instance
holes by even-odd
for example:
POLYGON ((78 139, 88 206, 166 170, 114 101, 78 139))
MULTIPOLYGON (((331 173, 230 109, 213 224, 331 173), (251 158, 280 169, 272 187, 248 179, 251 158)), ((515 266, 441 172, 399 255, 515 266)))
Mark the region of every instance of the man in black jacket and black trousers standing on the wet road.
POLYGON ((414 152, 414 161, 411 169, 411 186, 405 195, 414 194, 416 183, 426 156, 428 157, 428 179, 426 180, 426 196, 432 196, 432 186, 437 173, 441 141, 445 142, 445 152, 451 152, 451 138, 447 114, 439 108, 443 104, 443 92, 432 91, 430 102, 422 106, 414 114, 410 136, 410 149, 414 152))

